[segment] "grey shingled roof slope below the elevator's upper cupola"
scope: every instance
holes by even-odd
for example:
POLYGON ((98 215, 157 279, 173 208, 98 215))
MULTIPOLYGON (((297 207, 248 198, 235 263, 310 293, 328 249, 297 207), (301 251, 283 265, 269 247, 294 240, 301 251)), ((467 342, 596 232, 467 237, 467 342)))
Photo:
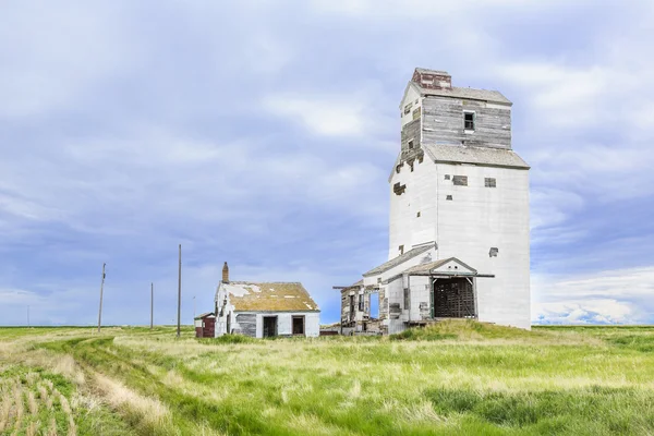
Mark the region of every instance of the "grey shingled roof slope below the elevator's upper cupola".
POLYGON ((511 149, 447 144, 422 144, 422 147, 436 162, 476 164, 522 169, 530 168, 529 165, 511 149))

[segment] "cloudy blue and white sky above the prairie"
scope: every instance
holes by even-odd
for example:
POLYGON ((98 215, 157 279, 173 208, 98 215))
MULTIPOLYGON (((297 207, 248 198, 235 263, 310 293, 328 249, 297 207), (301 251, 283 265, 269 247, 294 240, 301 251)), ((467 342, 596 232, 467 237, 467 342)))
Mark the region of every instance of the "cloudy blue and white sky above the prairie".
POLYGON ((654 3, 23 0, 0 5, 0 325, 155 323, 233 280, 339 319, 386 261, 415 66, 513 101, 532 319, 654 323, 654 3))

